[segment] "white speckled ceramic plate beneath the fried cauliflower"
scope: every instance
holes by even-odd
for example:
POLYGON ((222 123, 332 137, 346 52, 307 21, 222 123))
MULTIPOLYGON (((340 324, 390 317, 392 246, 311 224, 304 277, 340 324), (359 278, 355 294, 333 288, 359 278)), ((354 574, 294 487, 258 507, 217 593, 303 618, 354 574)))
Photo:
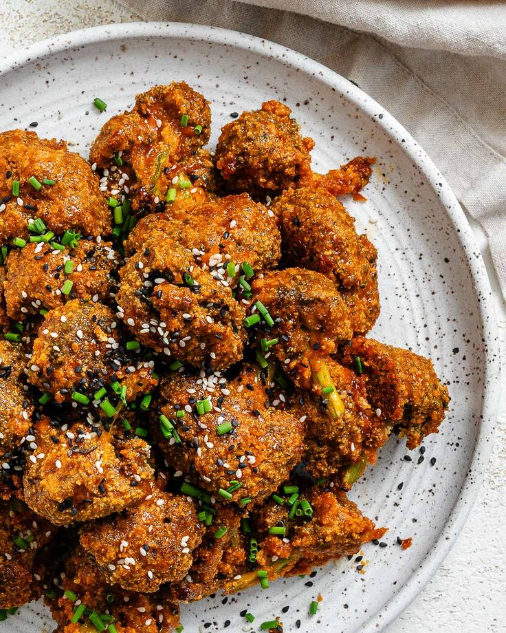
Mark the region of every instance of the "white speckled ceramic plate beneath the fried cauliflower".
MULTIPOLYGON (((450 414, 439 435, 424 443, 423 455, 415 451, 406 461, 404 443, 392 439, 353 489, 364 513, 390 528, 386 547, 364 548, 365 574, 345 559, 311 579, 185 606, 185 631, 248 630, 239 615, 246 608, 256 616, 253 630, 278 615, 285 631, 381 630, 448 553, 487 464, 499 358, 481 255, 441 174, 388 112, 331 70, 252 36, 153 23, 39 43, 0 65, 0 129, 36 121, 41 136, 63 137, 87 155, 108 116, 131 107, 137 92, 172 79, 185 79, 212 102, 213 141, 230 113, 278 98, 316 140, 316 167, 337 167, 361 153, 377 156, 369 200, 347 203, 379 251, 382 315, 373 335, 430 356, 452 396, 450 414), (93 107, 96 96, 107 102, 106 114, 93 107), (397 536, 412 537, 412 547, 402 550, 397 536), (309 603, 318 594, 323 601, 311 618, 309 603)), ((32 605, 0 623, 0 633, 52 626, 44 608, 32 605)))

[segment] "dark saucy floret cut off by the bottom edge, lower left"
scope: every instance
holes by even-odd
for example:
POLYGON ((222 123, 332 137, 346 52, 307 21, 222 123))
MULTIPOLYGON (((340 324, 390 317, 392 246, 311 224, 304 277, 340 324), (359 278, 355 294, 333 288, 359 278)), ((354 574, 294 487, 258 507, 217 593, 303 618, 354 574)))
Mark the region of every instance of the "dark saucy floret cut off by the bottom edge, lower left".
POLYGON ((126 591, 119 585, 109 586, 80 546, 67 559, 61 590, 63 593, 57 599, 49 601, 58 633, 96 633, 98 628, 91 614, 96 622, 95 614, 100 617, 104 630, 113 623, 118 633, 173 633, 179 625, 179 607, 166 588, 146 594, 126 591), (74 594, 77 601, 72 599, 74 594), (75 618, 81 603, 87 609, 75 618))

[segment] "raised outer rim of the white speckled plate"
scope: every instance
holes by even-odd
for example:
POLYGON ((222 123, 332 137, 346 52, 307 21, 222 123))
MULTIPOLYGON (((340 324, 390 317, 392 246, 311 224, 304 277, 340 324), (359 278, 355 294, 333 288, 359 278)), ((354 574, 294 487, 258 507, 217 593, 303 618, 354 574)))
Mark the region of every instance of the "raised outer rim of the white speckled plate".
POLYGON ((65 34, 50 37, 12 52, 0 61, 0 79, 37 58, 46 58, 65 50, 100 43, 110 39, 179 38, 196 40, 204 43, 228 45, 233 48, 256 52, 262 56, 276 54, 278 59, 290 67, 297 67, 324 81, 327 85, 371 117, 375 124, 389 136, 395 145, 403 151, 428 180, 445 209, 450 224, 461 244, 467 265, 470 268, 474 292, 480 299, 478 310, 483 328, 483 347, 485 354, 485 376, 483 384, 484 397, 481 408, 482 419, 478 428, 476 443, 472 451, 470 468, 467 471, 459 496, 452 507, 443 529, 437 535, 432 548, 427 552, 425 561, 412 573, 408 581, 384 605, 377 609, 362 627, 362 633, 376 633, 384 630, 404 612, 410 603, 426 587, 434 573, 443 563, 461 533, 467 517, 476 502, 492 452, 494 429, 499 412, 499 386, 501 376, 500 341, 496 334, 496 308, 492 299, 492 288, 471 226, 456 199, 448 182, 437 169, 430 156, 412 135, 391 115, 380 103, 366 94, 358 85, 344 76, 314 59, 296 52, 281 44, 274 43, 258 36, 233 31, 230 29, 198 25, 183 22, 124 22, 98 25, 91 28, 74 30, 65 34), (377 115, 382 114, 382 118, 377 115), (397 138, 404 138, 399 143, 397 138), (434 183, 439 184, 436 190, 434 183), (478 257, 476 257, 478 254, 478 257), (494 357, 498 359, 497 367, 494 357))

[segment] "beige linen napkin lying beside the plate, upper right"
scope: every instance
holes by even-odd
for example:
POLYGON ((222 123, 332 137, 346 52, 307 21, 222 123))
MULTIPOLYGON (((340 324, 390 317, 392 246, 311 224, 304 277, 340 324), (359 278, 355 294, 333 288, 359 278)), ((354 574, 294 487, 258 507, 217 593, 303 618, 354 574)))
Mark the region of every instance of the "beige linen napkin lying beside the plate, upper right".
POLYGON ((209 24, 270 39, 358 83, 417 138, 483 226, 506 298, 505 3, 122 3, 146 20, 209 24))

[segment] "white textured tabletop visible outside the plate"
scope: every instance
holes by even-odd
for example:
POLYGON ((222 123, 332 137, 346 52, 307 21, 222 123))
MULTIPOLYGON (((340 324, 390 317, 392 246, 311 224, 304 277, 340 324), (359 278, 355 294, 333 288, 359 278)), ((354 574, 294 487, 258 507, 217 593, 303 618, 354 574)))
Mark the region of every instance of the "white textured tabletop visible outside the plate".
MULTIPOLYGON (((0 56, 67 31, 137 19, 115 0, 0 0, 0 56)), ((494 273, 487 261, 492 284, 494 273)), ((503 350, 506 310, 496 292, 503 350)), ((503 393, 506 394, 506 385, 503 393)), ((503 398, 506 400, 506 398, 503 398)), ((506 407, 499 416, 485 484, 452 552, 388 633, 506 632, 506 407)), ((36 633, 36 632, 34 632, 36 633)))

